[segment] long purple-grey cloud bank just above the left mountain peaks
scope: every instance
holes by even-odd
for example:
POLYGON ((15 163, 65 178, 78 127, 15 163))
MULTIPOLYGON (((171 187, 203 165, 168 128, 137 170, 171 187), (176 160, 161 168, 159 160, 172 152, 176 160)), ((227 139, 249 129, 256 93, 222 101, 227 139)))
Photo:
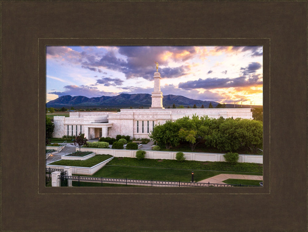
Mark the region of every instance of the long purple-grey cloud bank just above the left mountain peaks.
POLYGON ((88 98, 92 97, 101 97, 103 95, 107 96, 115 96, 118 95, 118 93, 113 93, 113 92, 105 92, 105 91, 100 91, 96 87, 91 87, 91 86, 64 86, 64 89, 66 89, 63 92, 51 92, 48 94, 56 94, 58 96, 63 96, 63 95, 71 95, 71 96, 85 96, 88 98))

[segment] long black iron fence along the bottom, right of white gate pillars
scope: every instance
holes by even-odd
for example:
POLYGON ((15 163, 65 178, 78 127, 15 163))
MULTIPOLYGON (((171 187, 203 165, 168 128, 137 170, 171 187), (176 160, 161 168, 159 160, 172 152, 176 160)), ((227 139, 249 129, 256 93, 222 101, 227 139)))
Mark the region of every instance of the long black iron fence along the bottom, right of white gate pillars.
POLYGON ((157 181, 157 180, 132 180, 119 178, 103 177, 85 177, 85 176, 67 176, 60 175, 60 186, 72 187, 237 187, 249 186, 260 187, 255 185, 235 185, 235 184, 213 184, 213 183, 196 183, 196 182, 174 182, 174 181, 157 181))

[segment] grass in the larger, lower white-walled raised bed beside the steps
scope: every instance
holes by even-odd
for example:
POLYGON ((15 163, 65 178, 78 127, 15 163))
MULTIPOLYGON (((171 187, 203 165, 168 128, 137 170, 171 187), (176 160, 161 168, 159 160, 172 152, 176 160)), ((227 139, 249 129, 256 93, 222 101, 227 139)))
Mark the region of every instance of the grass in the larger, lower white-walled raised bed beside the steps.
POLYGON ((95 155, 94 157, 89 158, 87 160, 64 160, 63 159, 63 160, 58 160, 58 161, 55 161, 49 164, 50 165, 61 165, 61 166, 75 166, 75 167, 92 167, 111 157, 112 155, 95 155))

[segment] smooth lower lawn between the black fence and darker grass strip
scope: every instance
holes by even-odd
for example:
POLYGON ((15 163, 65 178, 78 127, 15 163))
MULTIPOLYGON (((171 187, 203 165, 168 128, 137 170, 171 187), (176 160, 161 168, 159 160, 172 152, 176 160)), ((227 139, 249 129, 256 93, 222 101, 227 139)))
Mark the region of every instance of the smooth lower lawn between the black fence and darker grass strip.
MULTIPOLYGON (((105 178, 128 178, 140 180, 161 180, 161 181, 182 181, 190 182, 191 172, 194 171, 194 181, 198 182, 219 174, 230 174, 222 171, 205 170, 181 170, 181 169, 162 169, 162 168, 143 168, 143 167, 123 167, 123 166, 104 166, 93 174, 93 177, 105 178)), ((243 172, 232 172, 232 174, 248 174, 243 172)), ((253 175, 254 173, 249 173, 253 175)), ((77 175, 76 175, 77 176, 77 175)))

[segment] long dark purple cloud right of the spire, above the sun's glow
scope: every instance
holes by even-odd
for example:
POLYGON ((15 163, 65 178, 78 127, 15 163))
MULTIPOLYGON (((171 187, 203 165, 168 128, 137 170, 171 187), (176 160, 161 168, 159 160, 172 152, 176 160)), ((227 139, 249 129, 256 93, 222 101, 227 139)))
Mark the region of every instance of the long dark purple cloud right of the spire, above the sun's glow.
POLYGON ((237 78, 207 78, 196 81, 180 82, 179 88, 182 89, 218 89, 218 88, 230 88, 230 87, 243 87, 243 86, 256 86, 262 85, 262 80, 258 75, 253 75, 250 78, 245 76, 237 78))

